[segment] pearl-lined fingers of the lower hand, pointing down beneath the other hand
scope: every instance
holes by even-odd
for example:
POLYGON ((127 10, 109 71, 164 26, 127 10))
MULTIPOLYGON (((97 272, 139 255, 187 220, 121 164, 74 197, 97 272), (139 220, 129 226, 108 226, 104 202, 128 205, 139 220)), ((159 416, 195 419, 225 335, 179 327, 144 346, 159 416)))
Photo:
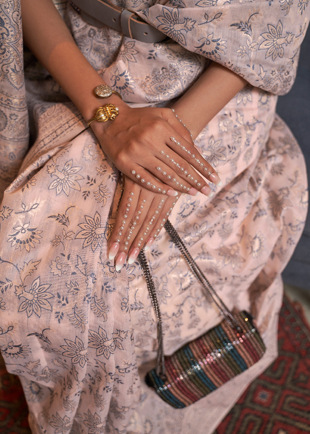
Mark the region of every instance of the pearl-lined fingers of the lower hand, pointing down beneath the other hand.
POLYGON ((147 250, 152 245, 179 197, 149 191, 124 178, 124 191, 108 243, 108 256, 110 260, 115 258, 116 271, 127 256, 132 264, 144 246, 147 250))

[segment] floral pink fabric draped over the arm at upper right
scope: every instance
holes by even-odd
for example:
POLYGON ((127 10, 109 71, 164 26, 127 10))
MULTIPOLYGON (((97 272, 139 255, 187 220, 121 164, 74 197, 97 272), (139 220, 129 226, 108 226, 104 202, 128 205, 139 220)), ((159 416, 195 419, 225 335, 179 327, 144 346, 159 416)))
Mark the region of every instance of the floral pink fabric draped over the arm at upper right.
POLYGON ((189 51, 284 95, 294 83, 309 0, 162 0, 138 14, 189 51))

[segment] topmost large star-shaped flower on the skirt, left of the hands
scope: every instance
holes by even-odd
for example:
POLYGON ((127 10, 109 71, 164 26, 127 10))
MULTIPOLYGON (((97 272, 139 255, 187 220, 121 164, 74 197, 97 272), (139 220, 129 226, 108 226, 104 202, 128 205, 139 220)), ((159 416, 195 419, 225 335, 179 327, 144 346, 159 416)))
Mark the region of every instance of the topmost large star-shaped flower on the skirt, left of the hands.
POLYGON ((48 189, 53 190, 56 188, 56 195, 60 194, 62 191, 69 196, 70 188, 74 190, 81 191, 81 186, 77 182, 80 179, 84 179, 82 175, 77 174, 82 168, 75 166, 73 167, 73 160, 69 160, 63 167, 63 170, 58 170, 58 165, 47 166, 47 173, 51 176, 56 176, 50 184, 48 189))

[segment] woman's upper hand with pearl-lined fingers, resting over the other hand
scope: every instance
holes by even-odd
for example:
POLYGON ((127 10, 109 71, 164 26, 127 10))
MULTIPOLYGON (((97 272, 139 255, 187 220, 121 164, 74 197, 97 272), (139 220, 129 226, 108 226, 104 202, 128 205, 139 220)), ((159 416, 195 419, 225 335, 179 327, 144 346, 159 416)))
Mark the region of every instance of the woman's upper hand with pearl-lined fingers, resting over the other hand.
POLYGON ((173 111, 131 108, 117 99, 114 96, 113 103, 119 107, 119 116, 114 121, 109 120, 108 125, 91 124, 115 166, 150 191, 170 196, 195 196, 200 191, 212 196, 204 178, 217 185, 221 185, 221 180, 194 147, 190 133, 173 111))

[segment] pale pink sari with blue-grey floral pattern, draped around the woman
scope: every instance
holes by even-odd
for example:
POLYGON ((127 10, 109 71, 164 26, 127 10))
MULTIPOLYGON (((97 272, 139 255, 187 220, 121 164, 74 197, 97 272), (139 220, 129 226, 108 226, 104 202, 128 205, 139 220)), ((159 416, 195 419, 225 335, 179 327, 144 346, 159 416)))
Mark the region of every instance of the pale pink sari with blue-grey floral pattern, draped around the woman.
MULTIPOLYGON (((201 53, 184 48, 191 43, 193 21, 197 15, 203 18, 200 6, 186 15, 189 30, 181 32, 184 38, 178 36, 178 43, 145 44, 106 27, 90 26, 66 1, 55 3, 89 62, 133 106, 168 105, 208 64, 201 53)), ((4 4, 4 22, 15 23, 13 44, 20 41, 16 36, 20 35, 19 3, 4 4)), ((248 55, 255 53, 251 69, 256 71, 260 62, 265 76, 282 86, 281 80, 289 76, 287 68, 296 66, 296 56, 292 62, 286 48, 297 36, 288 45, 278 38, 276 56, 267 34, 297 35, 302 30, 300 22, 295 23, 297 3, 290 2, 285 9, 283 2, 247 2, 244 10, 252 4, 260 17, 272 16, 266 10, 278 9, 279 4, 283 11, 270 23, 247 22, 239 15, 244 29, 248 23, 253 33, 262 35, 250 40, 239 25, 231 26, 237 23, 231 17, 236 5, 221 6, 226 13, 211 21, 212 32, 216 23, 221 33, 220 39, 215 33, 212 36, 218 39, 218 56, 222 59, 222 51, 228 53, 224 40, 231 44, 237 40, 231 62, 237 58, 238 67, 247 71, 248 55), (281 30, 279 18, 289 30, 281 30), (251 45, 255 41, 261 49, 251 45)), ((307 13, 304 5, 299 19, 307 13)), ((140 10, 148 6, 129 5, 140 10)), ((149 16, 155 7, 163 8, 150 7, 149 16)), ((172 19, 189 13, 181 2, 170 12, 172 19)), ((168 16, 168 12, 158 13, 163 30, 168 16)), ((3 46, 13 64, 10 44, 7 39, 3 46)), ((274 113, 277 97, 248 85, 204 128, 196 144, 223 185, 212 186, 213 198, 182 195, 171 215, 224 302, 255 316, 267 352, 254 367, 211 395, 175 410, 144 382, 145 372, 154 366, 157 342, 155 316, 139 263, 116 272, 107 259, 119 200, 119 172, 59 86, 27 53, 25 64, 20 74, 26 76, 30 125, 37 134, 0 207, 0 349, 7 369, 22 381, 33 433, 211 434, 244 388, 276 356, 280 272, 300 237, 307 212, 303 157, 274 113)), ((12 68, 4 65, 5 61, 1 95, 7 99, 1 97, 1 116, 7 123, 1 124, 1 134, 7 138, 12 107, 18 101, 14 95, 20 96, 20 113, 25 112, 24 88, 10 85, 12 68)), ((12 164, 14 155, 21 158, 22 154, 22 146, 16 152, 19 133, 16 130, 15 141, 6 139, 1 148, 4 155, 12 153, 12 164)), ((221 318, 164 231, 147 253, 162 312, 165 352, 171 354, 221 318)))

